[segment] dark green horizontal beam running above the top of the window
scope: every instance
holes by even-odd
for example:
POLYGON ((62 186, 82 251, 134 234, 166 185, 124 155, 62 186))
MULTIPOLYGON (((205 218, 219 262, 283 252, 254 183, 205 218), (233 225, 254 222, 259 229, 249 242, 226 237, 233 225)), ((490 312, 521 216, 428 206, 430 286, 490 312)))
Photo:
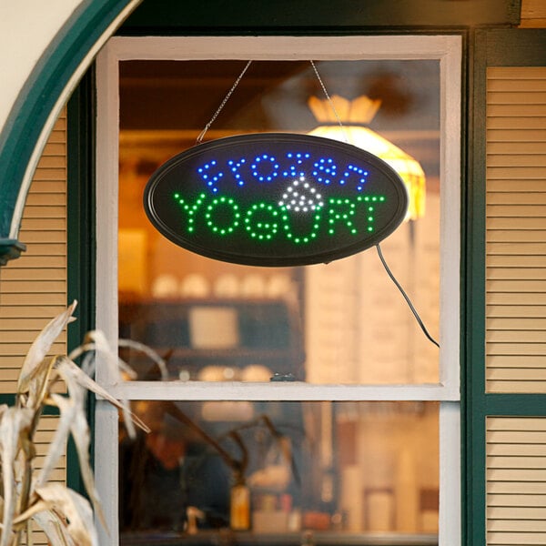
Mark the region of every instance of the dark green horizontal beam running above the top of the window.
POLYGON ((259 34, 335 32, 358 28, 424 28, 457 25, 519 25, 521 0, 209 0, 191 5, 145 0, 120 28, 126 35, 259 34))

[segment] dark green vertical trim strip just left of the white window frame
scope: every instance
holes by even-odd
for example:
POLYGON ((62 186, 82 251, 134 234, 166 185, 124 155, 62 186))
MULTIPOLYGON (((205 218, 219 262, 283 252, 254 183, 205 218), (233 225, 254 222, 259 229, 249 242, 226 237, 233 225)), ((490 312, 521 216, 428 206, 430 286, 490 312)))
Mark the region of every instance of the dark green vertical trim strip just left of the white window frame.
MULTIPOLYGON (((76 322, 68 326, 68 349, 81 344, 86 332, 95 329, 95 70, 84 76, 67 105, 67 283, 68 302, 77 299, 76 322)), ((86 399, 86 418, 95 429, 95 396, 86 399)), ((91 439, 93 461, 95 443, 91 439)), ((66 483, 86 494, 77 452, 67 447, 66 483)))

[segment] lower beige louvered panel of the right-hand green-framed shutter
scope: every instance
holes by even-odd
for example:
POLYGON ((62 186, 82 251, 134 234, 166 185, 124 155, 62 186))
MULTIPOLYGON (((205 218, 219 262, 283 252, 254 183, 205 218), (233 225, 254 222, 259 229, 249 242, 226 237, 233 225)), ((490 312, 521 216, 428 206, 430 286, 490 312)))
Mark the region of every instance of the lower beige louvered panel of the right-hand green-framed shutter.
POLYGON ((486 421, 487 544, 546 541, 546 418, 486 421))

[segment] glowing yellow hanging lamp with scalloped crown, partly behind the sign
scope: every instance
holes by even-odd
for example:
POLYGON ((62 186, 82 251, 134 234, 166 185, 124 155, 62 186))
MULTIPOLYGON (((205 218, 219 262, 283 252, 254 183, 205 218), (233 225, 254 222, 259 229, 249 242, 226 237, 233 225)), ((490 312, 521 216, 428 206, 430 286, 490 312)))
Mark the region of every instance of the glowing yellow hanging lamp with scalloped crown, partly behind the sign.
POLYGON ((420 163, 368 127, 381 106, 380 99, 359 96, 350 101, 333 95, 328 101, 311 96, 308 106, 321 124, 310 131, 309 135, 347 142, 385 161, 398 173, 408 190, 410 202, 405 220, 416 220, 424 216, 426 182, 420 163))

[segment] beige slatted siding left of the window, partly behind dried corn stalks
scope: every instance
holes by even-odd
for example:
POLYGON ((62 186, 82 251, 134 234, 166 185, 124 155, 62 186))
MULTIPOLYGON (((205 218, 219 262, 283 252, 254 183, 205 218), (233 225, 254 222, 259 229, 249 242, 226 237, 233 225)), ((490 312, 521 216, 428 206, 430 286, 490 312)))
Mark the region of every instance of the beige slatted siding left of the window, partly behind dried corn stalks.
MULTIPOLYGON (((14 393, 19 369, 36 334, 66 308, 66 113, 57 120, 35 172, 19 238, 22 257, 0 271, 0 392, 14 393)), ((52 354, 66 352, 66 334, 52 354)), ((36 433, 36 468, 45 460, 58 418, 45 416, 36 433)), ((54 481, 66 480, 63 457, 54 481)), ((35 546, 48 544, 41 531, 35 546)))

